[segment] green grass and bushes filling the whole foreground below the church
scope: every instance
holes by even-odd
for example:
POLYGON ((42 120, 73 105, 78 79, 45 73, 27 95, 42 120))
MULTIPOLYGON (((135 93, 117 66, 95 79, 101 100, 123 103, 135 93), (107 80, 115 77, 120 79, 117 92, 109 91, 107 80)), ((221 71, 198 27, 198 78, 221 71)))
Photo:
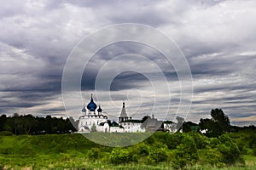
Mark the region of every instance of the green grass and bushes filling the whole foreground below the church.
POLYGON ((139 144, 112 148, 95 144, 81 134, 0 136, 0 167, 254 169, 255 139, 254 133, 208 138, 200 133, 159 132, 139 144))

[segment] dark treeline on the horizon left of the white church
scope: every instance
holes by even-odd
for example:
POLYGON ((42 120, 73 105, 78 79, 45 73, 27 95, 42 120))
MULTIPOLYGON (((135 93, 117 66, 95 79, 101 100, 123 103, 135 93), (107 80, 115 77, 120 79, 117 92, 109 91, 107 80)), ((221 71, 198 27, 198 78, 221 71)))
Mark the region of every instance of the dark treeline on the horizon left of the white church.
POLYGON ((63 119, 15 113, 13 116, 0 116, 0 132, 6 135, 71 133, 76 131, 71 122, 74 122, 73 117, 63 119))

